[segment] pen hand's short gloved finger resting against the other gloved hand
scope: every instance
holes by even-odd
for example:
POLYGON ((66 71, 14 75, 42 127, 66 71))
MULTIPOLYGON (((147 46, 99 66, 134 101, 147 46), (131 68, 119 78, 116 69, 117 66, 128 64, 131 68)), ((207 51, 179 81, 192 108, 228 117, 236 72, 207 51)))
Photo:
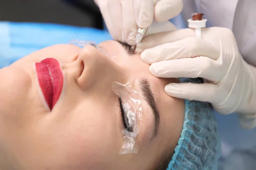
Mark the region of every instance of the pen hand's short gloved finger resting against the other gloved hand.
POLYGON ((157 34, 166 31, 174 31, 176 29, 176 26, 173 25, 173 23, 171 23, 170 21, 163 21, 159 23, 153 20, 151 26, 148 28, 148 31, 146 32, 146 35, 157 34))

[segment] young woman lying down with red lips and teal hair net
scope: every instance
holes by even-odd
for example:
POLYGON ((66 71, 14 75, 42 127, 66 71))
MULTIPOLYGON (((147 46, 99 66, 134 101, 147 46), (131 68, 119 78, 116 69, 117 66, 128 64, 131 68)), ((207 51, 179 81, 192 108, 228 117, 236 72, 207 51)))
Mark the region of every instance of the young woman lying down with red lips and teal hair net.
POLYGON ((50 46, 2 68, 0 169, 214 169, 220 147, 212 108, 168 96, 164 86, 179 80, 148 68, 113 40, 50 46), (123 130, 134 132, 113 82, 129 83, 140 100, 135 153, 120 154, 123 130))

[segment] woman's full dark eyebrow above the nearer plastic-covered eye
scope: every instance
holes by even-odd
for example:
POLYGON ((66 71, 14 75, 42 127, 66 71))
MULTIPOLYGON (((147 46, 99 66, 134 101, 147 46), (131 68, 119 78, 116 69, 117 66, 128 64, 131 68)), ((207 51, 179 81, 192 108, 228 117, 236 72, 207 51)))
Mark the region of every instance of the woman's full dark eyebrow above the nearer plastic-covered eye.
POLYGON ((140 91, 142 92, 143 97, 146 100, 146 102, 148 103, 148 105, 151 107, 153 114, 154 114, 154 118, 155 118, 154 119, 154 133, 151 138, 151 140, 152 140, 157 136, 158 127, 160 124, 160 115, 159 115, 159 111, 157 109, 157 105, 154 100, 154 94, 151 90, 150 83, 149 83, 148 79, 146 79, 146 78, 140 79, 139 86, 140 86, 140 91))

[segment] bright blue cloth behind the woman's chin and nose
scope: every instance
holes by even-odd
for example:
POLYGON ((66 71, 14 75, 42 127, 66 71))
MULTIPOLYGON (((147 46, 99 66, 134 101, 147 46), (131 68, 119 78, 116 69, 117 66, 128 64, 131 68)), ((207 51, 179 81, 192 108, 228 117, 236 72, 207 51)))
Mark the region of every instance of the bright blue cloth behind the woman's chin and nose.
POLYGON ((32 52, 70 40, 111 40, 105 30, 47 23, 0 22, 0 68, 32 52))

